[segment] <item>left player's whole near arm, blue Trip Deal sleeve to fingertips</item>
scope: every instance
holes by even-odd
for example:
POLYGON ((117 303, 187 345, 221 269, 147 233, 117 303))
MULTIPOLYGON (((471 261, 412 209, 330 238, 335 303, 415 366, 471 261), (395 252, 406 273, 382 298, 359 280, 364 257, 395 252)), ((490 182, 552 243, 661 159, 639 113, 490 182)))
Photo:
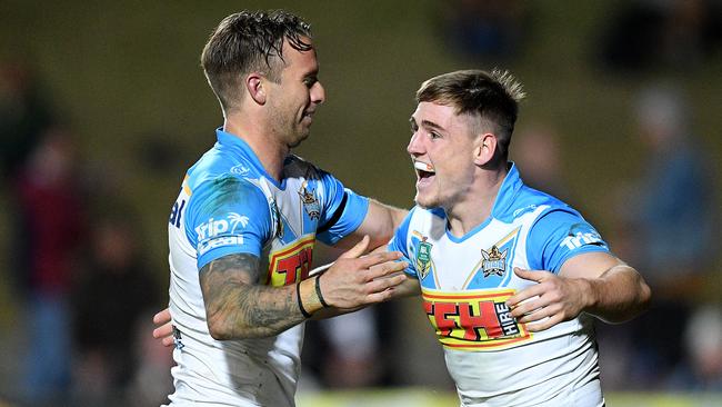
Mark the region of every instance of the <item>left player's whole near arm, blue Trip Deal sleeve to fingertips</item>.
POLYGON ((260 284, 262 247, 274 235, 265 196, 244 179, 222 177, 199 186, 189 201, 187 237, 198 254, 199 280, 210 335, 215 339, 268 337, 325 306, 353 308, 389 298, 405 279, 399 254, 360 256, 364 238, 323 275, 298 285, 260 284), (325 304, 324 304, 325 301, 325 304), (305 314, 304 314, 305 312, 305 314))

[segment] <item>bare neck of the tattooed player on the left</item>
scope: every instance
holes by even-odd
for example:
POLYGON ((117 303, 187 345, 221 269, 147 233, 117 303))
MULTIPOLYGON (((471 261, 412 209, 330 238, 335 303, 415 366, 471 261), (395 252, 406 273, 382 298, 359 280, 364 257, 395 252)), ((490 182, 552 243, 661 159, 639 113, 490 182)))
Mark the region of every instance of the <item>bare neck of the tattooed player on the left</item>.
POLYGON ((281 180, 283 161, 291 152, 265 131, 265 126, 254 120, 242 120, 240 115, 228 115, 223 121, 223 131, 245 141, 271 177, 281 180))

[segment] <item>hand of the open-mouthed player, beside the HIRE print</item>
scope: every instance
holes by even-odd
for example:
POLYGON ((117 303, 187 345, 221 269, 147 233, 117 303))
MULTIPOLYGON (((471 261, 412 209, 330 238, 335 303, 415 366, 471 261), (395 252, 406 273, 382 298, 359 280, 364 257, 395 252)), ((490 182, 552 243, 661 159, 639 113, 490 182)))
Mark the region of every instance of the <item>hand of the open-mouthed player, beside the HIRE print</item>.
POLYGON ((583 279, 560 277, 544 270, 523 270, 514 274, 525 280, 537 281, 507 300, 511 315, 527 325, 530 331, 549 329, 575 318, 586 306, 583 279))

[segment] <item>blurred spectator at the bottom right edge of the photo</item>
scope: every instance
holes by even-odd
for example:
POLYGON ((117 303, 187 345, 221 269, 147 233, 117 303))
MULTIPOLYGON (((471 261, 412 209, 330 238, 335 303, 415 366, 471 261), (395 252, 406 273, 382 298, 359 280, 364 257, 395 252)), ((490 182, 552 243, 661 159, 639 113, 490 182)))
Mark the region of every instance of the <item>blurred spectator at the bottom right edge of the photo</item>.
POLYGON ((676 391, 722 391, 722 309, 702 306, 684 329, 684 360, 668 387, 676 391))

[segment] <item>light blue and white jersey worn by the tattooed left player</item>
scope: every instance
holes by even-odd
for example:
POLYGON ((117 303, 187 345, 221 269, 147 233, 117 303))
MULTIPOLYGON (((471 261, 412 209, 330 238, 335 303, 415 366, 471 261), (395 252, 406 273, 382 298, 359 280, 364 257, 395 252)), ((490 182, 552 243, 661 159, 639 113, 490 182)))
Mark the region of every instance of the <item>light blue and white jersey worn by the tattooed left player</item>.
POLYGON ((303 324, 278 336, 214 340, 199 270, 232 254, 260 258, 260 285, 308 277, 317 239, 333 245, 363 221, 369 201, 299 157, 281 181, 239 137, 218 142, 189 169, 169 221, 170 310, 179 330, 172 405, 293 406, 303 324))

